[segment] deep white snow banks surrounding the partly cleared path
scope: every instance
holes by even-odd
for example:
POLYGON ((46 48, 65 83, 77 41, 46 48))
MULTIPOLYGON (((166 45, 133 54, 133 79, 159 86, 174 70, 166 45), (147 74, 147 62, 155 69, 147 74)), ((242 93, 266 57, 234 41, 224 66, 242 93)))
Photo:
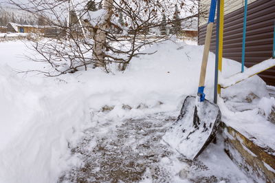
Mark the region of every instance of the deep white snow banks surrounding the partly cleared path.
MULTIPOLYGON (((90 69, 45 78, 14 72, 12 69, 48 68, 42 63, 24 61, 20 56, 26 54, 23 43, 0 43, 0 182, 56 182, 63 171, 81 164, 76 155, 72 157, 70 148, 84 136, 85 129, 94 127, 96 121, 91 116, 95 114, 101 120, 117 122, 107 129, 102 127, 105 135, 126 118, 158 112, 179 114, 184 98, 197 93, 203 46, 166 41, 147 48, 148 52, 156 50, 153 55, 134 58, 124 73, 105 74, 100 69, 90 69)), ((239 63, 223 59, 224 78, 240 69, 239 63)), ((212 100, 213 80, 214 54, 210 53, 206 74, 208 100, 212 100)), ((258 135, 268 128, 265 143, 275 147, 274 140, 267 138, 275 131, 267 121, 275 101, 268 96, 261 78, 248 78, 224 89, 222 95, 226 99, 225 103, 220 101, 223 119, 242 131, 249 127, 258 135), (245 105, 248 110, 240 111, 236 103, 242 103, 250 94, 256 97, 245 105), (243 124, 248 118, 252 125, 243 124), (264 122, 260 124, 260 120, 264 122)), ((217 156, 225 157, 221 153, 222 150, 213 156, 204 155, 207 159, 203 160, 209 160, 208 164, 214 167, 217 156)), ((179 166, 175 171, 181 169, 179 166)), ((236 173, 234 180, 249 181, 236 166, 228 169, 236 173)))

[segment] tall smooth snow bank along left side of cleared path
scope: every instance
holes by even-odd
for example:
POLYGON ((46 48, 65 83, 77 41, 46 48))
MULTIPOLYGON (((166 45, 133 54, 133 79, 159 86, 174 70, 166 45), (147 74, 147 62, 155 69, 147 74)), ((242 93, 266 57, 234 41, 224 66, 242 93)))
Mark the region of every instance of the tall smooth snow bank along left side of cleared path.
POLYGON ((55 182, 74 163, 68 146, 87 121, 84 96, 0 71, 0 182, 55 182))

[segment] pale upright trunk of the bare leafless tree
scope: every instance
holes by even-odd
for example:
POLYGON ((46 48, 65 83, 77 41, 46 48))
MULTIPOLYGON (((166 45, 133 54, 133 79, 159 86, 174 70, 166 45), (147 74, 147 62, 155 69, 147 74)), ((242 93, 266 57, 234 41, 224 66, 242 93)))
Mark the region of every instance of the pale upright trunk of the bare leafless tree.
POLYGON ((104 67, 104 51, 106 45, 107 31, 111 26, 111 16, 113 14, 113 0, 104 0, 103 9, 107 10, 106 14, 96 28, 94 28, 94 49, 93 58, 96 61, 95 67, 104 67))

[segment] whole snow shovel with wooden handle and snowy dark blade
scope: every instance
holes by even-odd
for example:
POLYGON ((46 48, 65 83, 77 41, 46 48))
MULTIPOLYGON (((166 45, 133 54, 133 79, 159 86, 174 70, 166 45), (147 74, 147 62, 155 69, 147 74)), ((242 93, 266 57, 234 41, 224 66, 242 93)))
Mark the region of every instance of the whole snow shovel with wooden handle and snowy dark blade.
POLYGON ((211 1, 198 96, 186 97, 177 121, 162 137, 170 147, 176 149, 189 160, 195 160, 206 149, 208 144, 213 140, 221 122, 219 107, 206 100, 205 94, 203 94, 216 4, 217 0, 211 1))

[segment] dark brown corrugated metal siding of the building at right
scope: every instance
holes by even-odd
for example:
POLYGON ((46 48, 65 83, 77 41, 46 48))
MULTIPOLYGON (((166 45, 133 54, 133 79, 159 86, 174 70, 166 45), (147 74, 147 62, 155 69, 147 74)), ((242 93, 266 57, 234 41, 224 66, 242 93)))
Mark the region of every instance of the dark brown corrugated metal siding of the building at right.
MULTIPOLYGON (((230 0, 225 0, 230 1, 230 0)), ((243 2, 242 0, 239 0, 243 2)), ((258 0, 248 5, 248 21, 245 47, 245 66, 272 57, 275 0, 258 0)), ((211 52, 215 51, 216 26, 212 34, 211 52)), ((204 44, 206 25, 199 27, 199 45, 204 44)), ((243 38, 243 8, 225 14, 223 57, 241 62, 243 38)), ((241 68, 240 68, 241 71, 241 68)), ((268 85, 275 85, 275 68, 259 74, 268 85)))

